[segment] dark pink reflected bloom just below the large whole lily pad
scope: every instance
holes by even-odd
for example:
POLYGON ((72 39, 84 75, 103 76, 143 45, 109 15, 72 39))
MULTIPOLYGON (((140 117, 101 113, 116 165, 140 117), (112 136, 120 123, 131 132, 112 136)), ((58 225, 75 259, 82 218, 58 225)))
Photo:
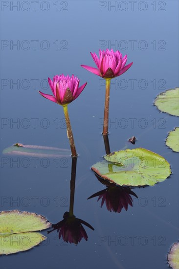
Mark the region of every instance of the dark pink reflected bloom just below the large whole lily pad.
POLYGON ((101 207, 103 206, 104 202, 106 202, 106 207, 110 212, 113 211, 120 213, 122 208, 125 208, 126 211, 128 210, 128 204, 133 206, 133 199, 131 195, 135 196, 136 198, 138 197, 130 188, 116 186, 113 183, 105 183, 105 179, 102 179, 97 175, 95 176, 101 183, 108 185, 108 187, 91 195, 88 199, 99 196, 97 201, 102 199, 101 207))

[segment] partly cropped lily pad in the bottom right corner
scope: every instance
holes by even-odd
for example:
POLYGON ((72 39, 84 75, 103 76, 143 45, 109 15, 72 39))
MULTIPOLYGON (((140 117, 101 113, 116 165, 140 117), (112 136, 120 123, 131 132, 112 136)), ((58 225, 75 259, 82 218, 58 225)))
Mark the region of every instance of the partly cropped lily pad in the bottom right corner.
POLYGON ((174 243, 167 256, 168 264, 173 269, 179 269, 179 242, 174 243))

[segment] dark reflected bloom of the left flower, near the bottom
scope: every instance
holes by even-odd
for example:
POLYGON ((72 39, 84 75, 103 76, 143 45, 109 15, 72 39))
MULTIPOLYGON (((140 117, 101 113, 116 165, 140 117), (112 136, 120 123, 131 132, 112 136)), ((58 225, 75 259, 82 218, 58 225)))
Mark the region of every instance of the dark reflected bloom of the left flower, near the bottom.
POLYGON ((69 216, 69 212, 65 212, 64 220, 57 224, 52 224, 53 230, 48 231, 48 233, 57 230, 57 232, 59 233, 59 239, 62 236, 65 242, 69 242, 70 244, 74 243, 75 245, 77 245, 82 238, 88 241, 88 235, 82 224, 86 225, 94 231, 94 228, 87 222, 81 219, 77 219, 74 215, 69 216))

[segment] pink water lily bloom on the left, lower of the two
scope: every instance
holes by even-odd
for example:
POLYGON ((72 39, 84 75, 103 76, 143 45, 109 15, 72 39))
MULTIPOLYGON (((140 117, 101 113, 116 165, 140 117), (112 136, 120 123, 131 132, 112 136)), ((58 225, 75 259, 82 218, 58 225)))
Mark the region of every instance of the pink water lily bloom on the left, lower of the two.
POLYGON ((41 91, 39 91, 39 93, 46 99, 60 105, 71 103, 80 95, 87 85, 86 82, 79 87, 80 80, 77 77, 74 77, 74 75, 71 77, 68 75, 64 76, 63 74, 54 76, 53 81, 48 78, 48 83, 54 96, 41 91))

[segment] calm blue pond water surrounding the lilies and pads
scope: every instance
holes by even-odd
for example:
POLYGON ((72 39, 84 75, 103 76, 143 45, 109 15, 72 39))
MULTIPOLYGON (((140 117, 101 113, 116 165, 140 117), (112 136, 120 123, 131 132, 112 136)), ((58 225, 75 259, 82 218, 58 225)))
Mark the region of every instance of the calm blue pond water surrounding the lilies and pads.
POLYGON ((51 94, 48 77, 74 74, 80 86, 88 82, 68 105, 79 155, 74 215, 94 228, 83 225, 88 241, 77 245, 59 239, 57 229, 43 230, 47 239, 39 246, 1 256, 2 269, 168 268, 167 253, 179 238, 179 155, 165 139, 179 118, 153 103, 160 92, 179 87, 178 8, 175 0, 1 1, 1 211, 34 212, 52 224, 69 211, 70 152, 50 157, 2 151, 16 143, 70 150, 63 108, 38 90, 51 94), (95 67, 90 52, 107 48, 134 62, 111 81, 111 152, 145 148, 172 169, 154 186, 120 189, 131 202, 111 212, 97 201, 106 181, 91 170, 106 154, 105 80, 80 66, 95 67), (128 141, 132 136, 135 144, 128 141))

